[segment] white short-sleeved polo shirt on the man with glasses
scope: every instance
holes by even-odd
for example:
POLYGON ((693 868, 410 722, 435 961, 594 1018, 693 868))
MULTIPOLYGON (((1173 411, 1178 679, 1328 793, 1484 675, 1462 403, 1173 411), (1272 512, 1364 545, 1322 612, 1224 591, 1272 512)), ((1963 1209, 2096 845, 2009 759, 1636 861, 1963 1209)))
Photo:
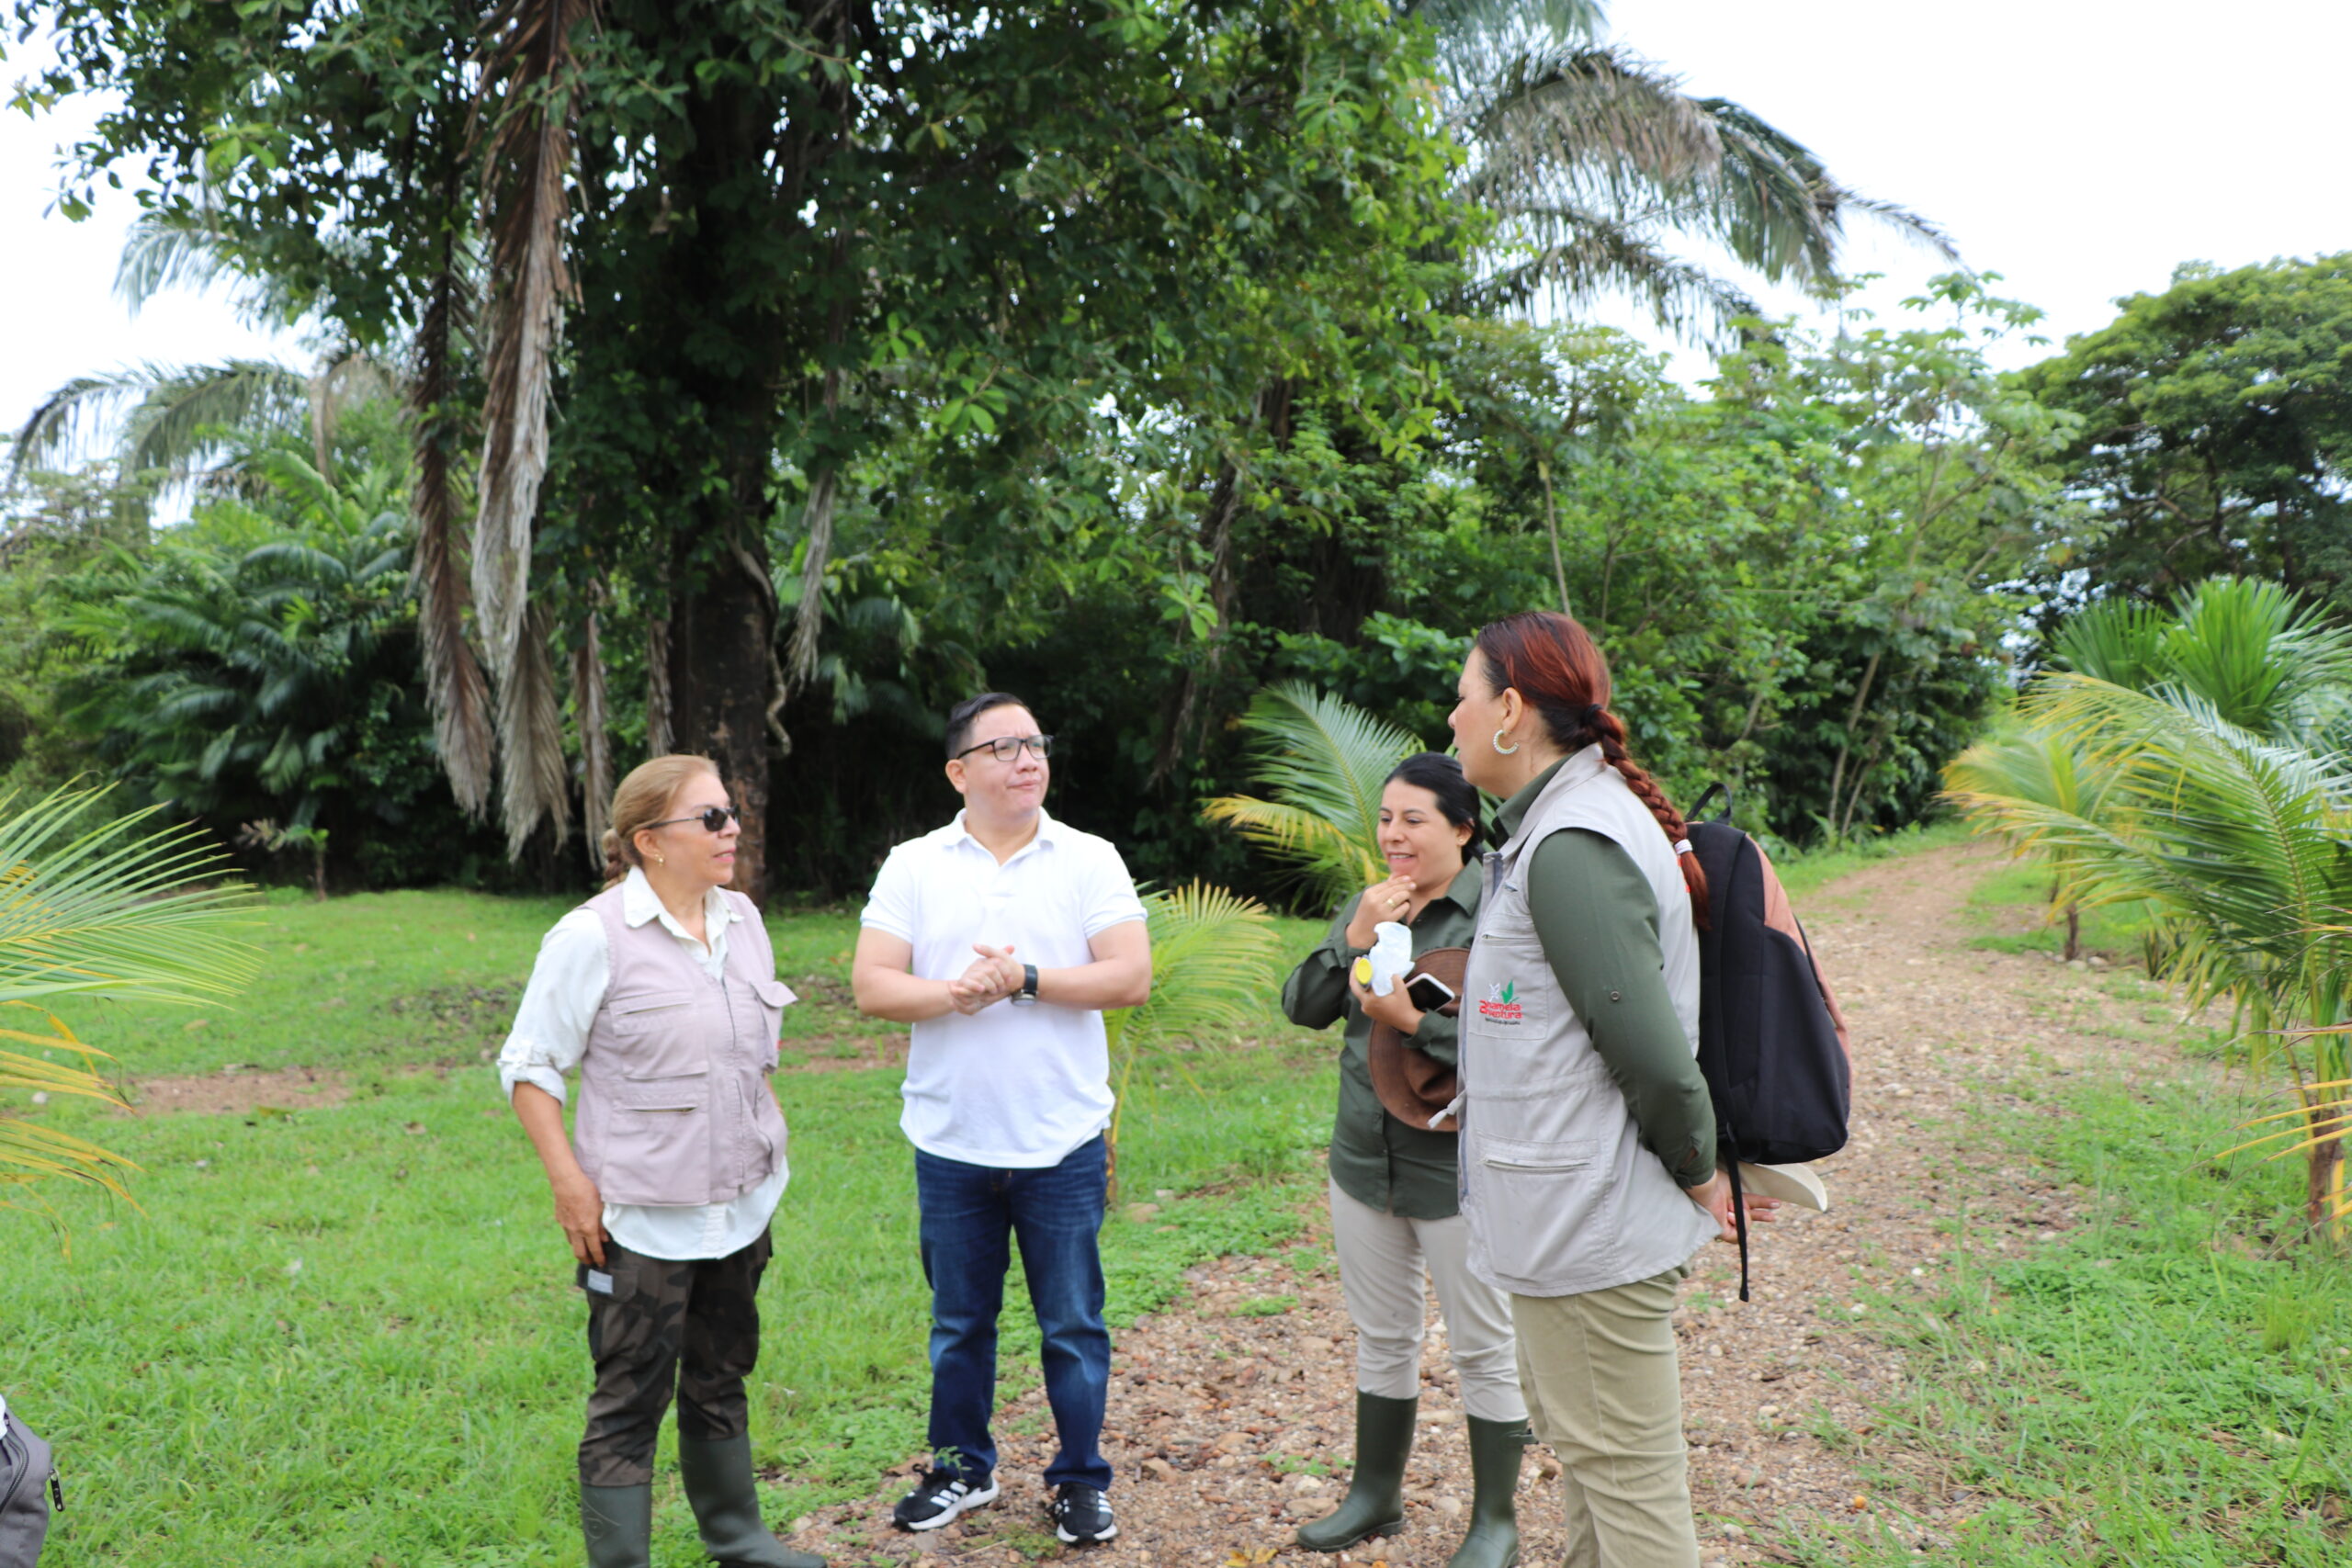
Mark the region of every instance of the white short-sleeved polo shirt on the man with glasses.
MULTIPOLYGON (((1011 860, 969 832, 964 813, 889 851, 861 924, 915 950, 913 973, 953 980, 971 945, 1011 943, 1016 964, 1077 969, 1098 931, 1143 919, 1127 863, 1108 839, 1037 813, 1037 837, 1011 860)), ((924 1154, 1004 1171, 1042 1171, 1110 1126, 1103 1016, 1040 1001, 997 1001, 974 1016, 915 1025, 898 1126, 924 1154)))

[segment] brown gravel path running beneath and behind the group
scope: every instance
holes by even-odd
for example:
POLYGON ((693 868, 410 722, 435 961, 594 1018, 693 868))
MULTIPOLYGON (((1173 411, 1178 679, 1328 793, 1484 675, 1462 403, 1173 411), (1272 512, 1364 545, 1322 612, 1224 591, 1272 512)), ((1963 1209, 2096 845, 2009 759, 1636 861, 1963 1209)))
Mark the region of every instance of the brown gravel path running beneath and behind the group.
MULTIPOLYGON (((1860 1293, 1933 1286, 1955 1246, 2027 1248, 2070 1220, 2067 1194, 1955 1147, 1962 1095, 2002 1093, 2013 1072, 2065 1072, 2112 1051, 2110 992, 2042 957, 1969 947, 1964 910, 1997 865, 1980 846, 1884 860, 1804 900, 1806 931, 1853 1032, 1853 1143, 1825 1164, 1832 1208, 1759 1232, 1755 1300, 1738 1302, 1731 1248, 1700 1258, 1679 1316, 1682 1387, 1705 1563, 1771 1561, 1757 1535, 1783 1528, 1893 1530, 1933 1554, 1962 1495, 1933 1490, 1929 1455, 1872 1432, 1903 1356, 1870 1333, 1860 1293), (1955 1220, 1966 1213, 1966 1232, 1955 1220), (1849 1434, 1825 1443, 1813 1432, 1849 1434), (1889 1507, 1860 1472, 1905 1476, 1889 1507)), ((1345 1486, 1352 1338, 1315 1234, 1268 1258, 1223 1258, 1190 1298, 1115 1338, 1103 1450, 1120 1474, 1120 1537, 1084 1552, 1112 1566, 1388 1563, 1442 1566, 1470 1500, 1461 1401, 1435 1321, 1423 1363, 1423 1427, 1406 1472, 1406 1530, 1352 1556, 1291 1544, 1298 1521, 1345 1486)), ((863 1505, 797 1521, 795 1544, 835 1563, 1014 1563, 1077 1556, 1044 1521, 1037 1474, 1051 1455, 1040 1392, 1011 1389, 1000 1422, 1004 1497, 913 1537, 884 1521, 920 1469, 910 1462, 863 1505)), ((1529 1568, 1559 1561, 1557 1465, 1536 1448, 1522 1476, 1529 1568)))

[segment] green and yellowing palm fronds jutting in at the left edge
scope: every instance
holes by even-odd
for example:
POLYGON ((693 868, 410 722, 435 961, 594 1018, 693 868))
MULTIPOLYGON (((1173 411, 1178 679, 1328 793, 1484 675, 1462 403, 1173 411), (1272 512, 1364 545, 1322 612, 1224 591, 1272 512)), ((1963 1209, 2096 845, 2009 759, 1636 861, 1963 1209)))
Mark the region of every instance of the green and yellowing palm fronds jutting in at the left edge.
MULTIPOLYGON (((5 1095, 122 1105, 96 1070, 106 1053, 49 1011, 59 999, 219 1004, 256 969, 256 952, 233 936, 252 893, 205 882, 221 867, 219 851, 193 827, 153 830, 160 806, 85 825, 103 795, 68 785, 28 806, 0 797, 5 1095)), ((42 1182, 71 1180, 127 1199, 122 1175, 134 1168, 85 1138, 0 1114, 0 1194, 31 1197, 42 1182)))

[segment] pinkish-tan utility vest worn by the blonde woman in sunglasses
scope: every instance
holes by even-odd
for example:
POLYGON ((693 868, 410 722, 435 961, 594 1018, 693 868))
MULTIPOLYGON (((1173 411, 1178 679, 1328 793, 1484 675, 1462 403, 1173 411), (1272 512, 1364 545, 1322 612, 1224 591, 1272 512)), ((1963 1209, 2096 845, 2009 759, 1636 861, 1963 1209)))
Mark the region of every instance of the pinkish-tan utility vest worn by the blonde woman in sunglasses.
POLYGON ((612 980, 588 1025, 572 1147, 607 1204, 724 1204, 783 1159, 783 1112, 769 1093, 790 992, 776 983, 760 910, 741 917, 713 978, 659 919, 630 926, 621 889, 590 898, 604 922, 612 980))

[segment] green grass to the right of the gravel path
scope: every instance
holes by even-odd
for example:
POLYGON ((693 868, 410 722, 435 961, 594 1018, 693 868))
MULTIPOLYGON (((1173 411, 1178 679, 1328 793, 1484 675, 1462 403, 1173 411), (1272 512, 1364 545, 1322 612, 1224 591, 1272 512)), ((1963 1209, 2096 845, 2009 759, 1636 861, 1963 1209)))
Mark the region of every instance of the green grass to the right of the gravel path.
MULTIPOLYGON (((1978 907, 2006 919, 2044 891, 1997 872, 1978 907)), ((2049 1074, 1973 1103, 1966 1145, 2077 1187, 2084 1220, 2004 1251, 1962 1208, 1955 1267, 1872 1302, 1912 1361, 1875 1420, 1929 1455, 1936 1495, 1905 1507, 1884 1474, 1877 1528, 1790 1535, 1792 1561, 1922 1561, 1905 1512, 1947 1500, 1969 1519, 1924 1552, 1964 1568, 2352 1561, 2352 1265, 2305 1237, 2298 1161, 2223 1157, 2277 1100, 2136 1030, 2145 980, 2103 985, 2112 1032, 2166 1077, 2049 1074)))

